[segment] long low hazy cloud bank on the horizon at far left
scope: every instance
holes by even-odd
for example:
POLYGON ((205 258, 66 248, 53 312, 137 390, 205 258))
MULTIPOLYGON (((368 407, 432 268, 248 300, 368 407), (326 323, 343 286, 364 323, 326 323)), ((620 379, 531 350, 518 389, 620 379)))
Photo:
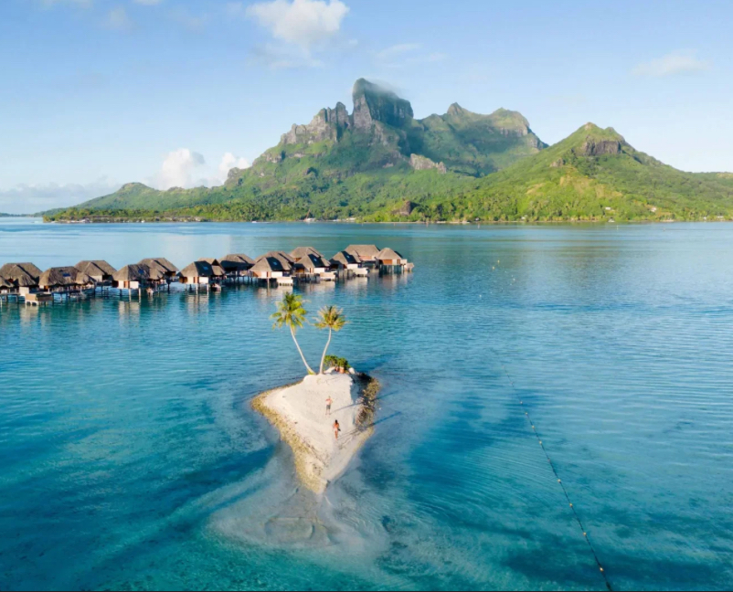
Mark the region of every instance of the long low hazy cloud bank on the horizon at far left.
POLYGON ((101 177, 87 185, 17 185, 12 189, 0 189, 0 212, 35 214, 56 207, 76 206, 94 197, 109 196, 121 185, 108 177, 101 177))

